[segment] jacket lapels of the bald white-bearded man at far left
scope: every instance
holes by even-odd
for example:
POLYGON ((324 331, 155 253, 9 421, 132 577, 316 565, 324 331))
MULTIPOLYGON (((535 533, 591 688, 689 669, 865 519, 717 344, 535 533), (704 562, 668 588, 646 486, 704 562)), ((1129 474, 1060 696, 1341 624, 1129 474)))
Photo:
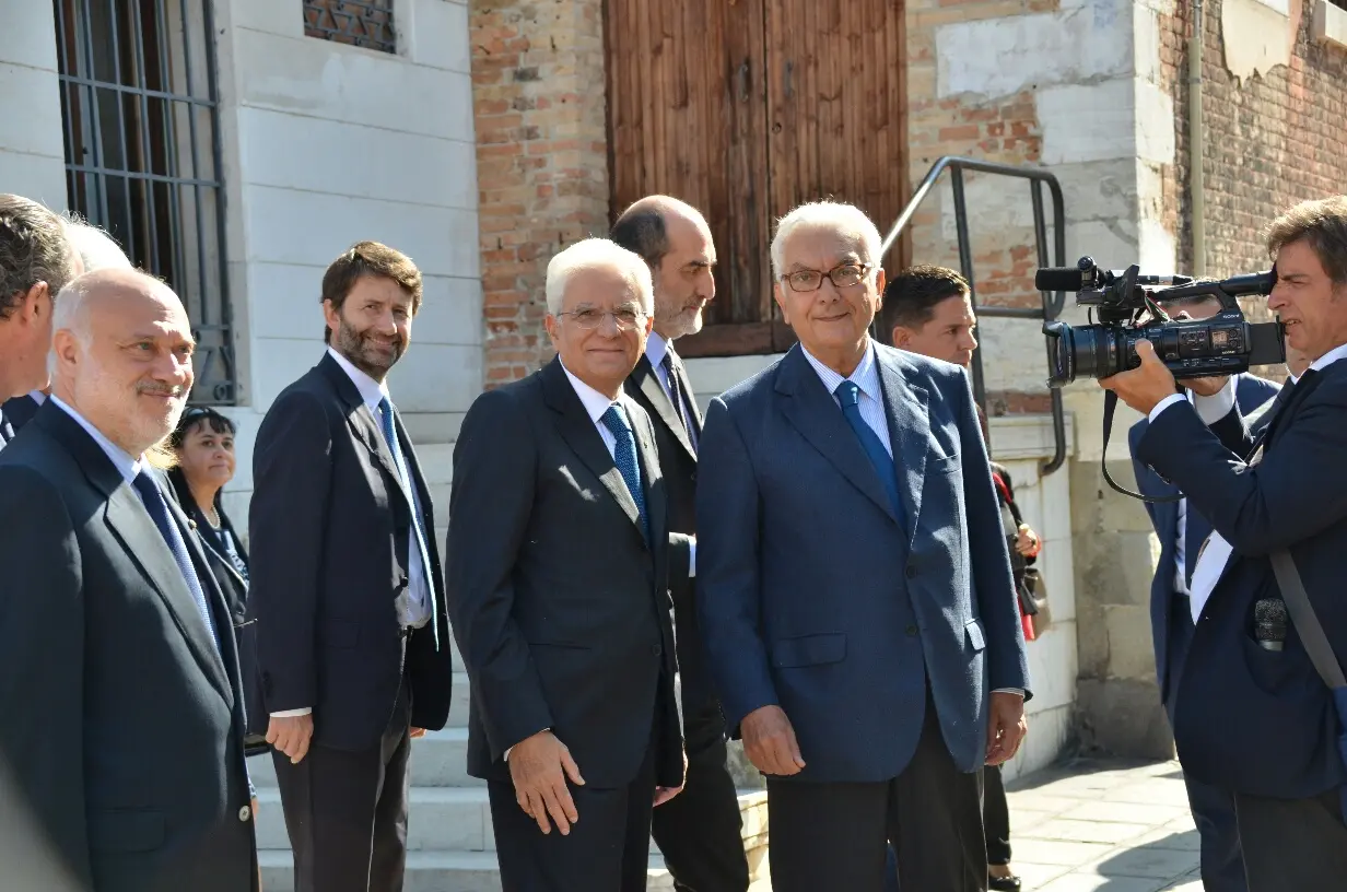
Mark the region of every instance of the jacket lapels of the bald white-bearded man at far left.
MULTIPOLYGON (((164 501, 170 505, 168 516, 178 523, 178 531, 182 534, 183 542, 187 543, 189 554, 193 554, 193 539, 195 536, 190 535, 186 524, 179 520, 180 512, 174 509, 172 501, 164 501)), ((197 602, 187 589, 187 581, 183 579, 182 570, 178 569, 178 562, 174 559, 172 551, 168 550, 168 543, 164 542, 163 534, 159 532, 159 527, 150 517, 150 512, 145 511, 144 503, 140 501, 140 496, 131 488, 131 484, 123 482, 109 493, 106 507, 104 508, 104 521, 121 542, 121 547, 127 551, 127 555, 140 570, 141 575, 145 577, 159 597, 163 598, 183 637, 187 639, 189 649, 191 649, 193 656, 197 659, 197 664, 210 678, 225 702, 232 706, 233 691, 225 675, 221 655, 216 649, 216 643, 210 639, 210 631, 206 629, 201 612, 197 609, 197 602)), ((195 554, 201 554, 199 547, 195 548, 195 554)), ((218 592, 213 585, 214 579, 209 574, 202 575, 201 563, 205 562, 203 555, 202 561, 195 561, 194 558, 194 562, 197 565, 198 582, 207 598, 207 604, 211 600, 218 600, 218 592)), ((225 623, 221 625, 217 618, 220 610, 216 610, 214 606, 211 609, 211 618, 216 618, 217 633, 221 637, 232 635, 232 624, 225 623)))

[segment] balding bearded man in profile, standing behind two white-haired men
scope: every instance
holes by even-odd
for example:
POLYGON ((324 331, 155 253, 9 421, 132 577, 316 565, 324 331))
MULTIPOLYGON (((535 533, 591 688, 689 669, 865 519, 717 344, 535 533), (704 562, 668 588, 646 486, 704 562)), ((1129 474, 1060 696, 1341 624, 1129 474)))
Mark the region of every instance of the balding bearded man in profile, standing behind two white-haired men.
MULTIPOLYGON (((696 442, 702 412, 674 342, 702 329, 715 298, 715 245, 695 208, 667 195, 641 198, 613 224, 612 240, 645 260, 655 283, 655 326, 626 379, 626 393, 655 424, 668 489, 669 528, 696 535, 696 442)), ((672 579, 687 783, 655 810, 652 833, 674 887, 683 892, 745 892, 749 865, 734 779, 726 767, 725 717, 696 625, 695 578, 672 579)))

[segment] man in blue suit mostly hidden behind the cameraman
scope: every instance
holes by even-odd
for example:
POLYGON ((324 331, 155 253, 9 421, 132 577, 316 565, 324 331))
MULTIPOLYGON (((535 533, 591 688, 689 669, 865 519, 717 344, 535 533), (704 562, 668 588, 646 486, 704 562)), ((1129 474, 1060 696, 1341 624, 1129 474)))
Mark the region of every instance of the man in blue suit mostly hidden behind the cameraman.
MULTIPOLYGON (((1203 296, 1187 302, 1161 305, 1167 313, 1187 313, 1189 318, 1204 319, 1220 310, 1220 302, 1203 296)), ((1202 379, 1195 385, 1214 392, 1215 379, 1202 379)), ((1281 389, 1277 384, 1253 375, 1235 379, 1235 399, 1242 412, 1251 414, 1268 403, 1281 389)), ((1149 422, 1141 419, 1127 431, 1131 447, 1137 490, 1146 496, 1168 497, 1179 490, 1156 472, 1136 458, 1141 438, 1149 422)), ((1188 500, 1145 503, 1150 523, 1160 538, 1160 562, 1150 582, 1150 635, 1156 647, 1156 678, 1160 683, 1160 702, 1173 715, 1173 691, 1177 689, 1184 656, 1192 641, 1188 586, 1196 566, 1197 550, 1211 535, 1211 523, 1188 507, 1188 500)), ((1192 810, 1202 837, 1202 880, 1208 892, 1243 892, 1245 865, 1239 854, 1239 829, 1235 825, 1235 803, 1231 794, 1204 784, 1192 773, 1184 775, 1188 787, 1188 807, 1192 810)))

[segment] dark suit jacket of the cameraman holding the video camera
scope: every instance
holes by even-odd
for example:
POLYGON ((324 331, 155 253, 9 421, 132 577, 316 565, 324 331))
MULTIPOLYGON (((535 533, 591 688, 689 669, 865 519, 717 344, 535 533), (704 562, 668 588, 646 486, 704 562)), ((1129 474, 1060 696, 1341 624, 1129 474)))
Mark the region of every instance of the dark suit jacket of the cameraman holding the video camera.
POLYGON ((1165 410, 1137 457, 1187 493, 1234 554, 1193 632, 1175 741, 1199 780, 1261 796, 1305 798, 1340 786, 1338 717, 1294 625, 1285 648, 1253 636, 1259 598, 1281 597, 1268 555, 1289 548, 1339 660, 1347 656, 1347 362, 1307 375, 1265 430, 1261 461, 1237 407, 1208 430, 1188 407, 1165 410), (1216 427, 1238 437, 1218 439, 1216 427), (1231 450, 1234 446, 1234 451, 1231 450))

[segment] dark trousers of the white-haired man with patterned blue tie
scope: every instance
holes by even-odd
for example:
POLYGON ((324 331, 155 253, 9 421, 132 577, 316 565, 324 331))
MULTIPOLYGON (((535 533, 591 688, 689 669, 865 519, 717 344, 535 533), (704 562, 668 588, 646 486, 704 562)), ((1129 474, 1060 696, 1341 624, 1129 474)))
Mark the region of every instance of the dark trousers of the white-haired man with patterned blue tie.
POLYGON ((636 779, 616 790, 570 784, 579 821, 568 835, 544 834, 515 799, 515 784, 492 780, 488 796, 504 892, 643 892, 655 804, 653 746, 636 779))

